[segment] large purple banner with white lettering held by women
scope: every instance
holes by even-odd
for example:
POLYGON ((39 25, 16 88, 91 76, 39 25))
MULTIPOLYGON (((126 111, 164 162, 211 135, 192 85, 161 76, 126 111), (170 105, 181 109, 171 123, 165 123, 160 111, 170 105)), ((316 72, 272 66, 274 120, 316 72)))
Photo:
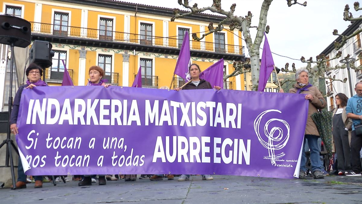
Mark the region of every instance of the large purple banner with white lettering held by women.
POLYGON ((16 140, 28 175, 292 178, 307 112, 304 94, 34 87, 16 140))

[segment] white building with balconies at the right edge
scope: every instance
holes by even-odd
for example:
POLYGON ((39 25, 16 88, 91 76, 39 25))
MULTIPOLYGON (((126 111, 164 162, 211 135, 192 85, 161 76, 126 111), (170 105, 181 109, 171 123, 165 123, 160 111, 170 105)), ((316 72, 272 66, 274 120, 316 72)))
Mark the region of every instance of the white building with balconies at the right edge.
MULTIPOLYGON (((348 26, 348 28, 342 33, 342 35, 348 36, 348 35, 354 33, 356 30, 361 29, 361 28, 362 28, 362 20, 354 21, 352 24, 350 24, 348 26)), ((338 36, 336 38, 336 40, 334 40, 334 41, 341 42, 342 37, 338 36)), ((324 54, 329 59, 336 56, 337 52, 339 51, 339 50, 334 49, 334 41, 330 45, 328 45, 328 47, 325 48, 323 50, 323 52, 321 52, 321 54, 324 54)), ((362 50, 361 35, 357 34, 353 38, 350 38, 349 40, 347 40, 347 43, 340 50, 342 51, 342 56, 338 59, 334 59, 334 60, 327 62, 327 67, 335 67, 337 65, 343 65, 340 62, 340 60, 344 59, 348 54, 350 55, 350 58, 352 57, 352 58, 358 59, 358 54, 362 50)), ((360 65, 362 65, 362 60, 358 60, 357 62, 355 62, 355 66, 360 66, 360 65)), ((326 75, 328 75, 329 77, 336 76, 336 79, 341 79, 341 80, 343 80, 344 78, 347 78, 346 83, 341 82, 341 81, 333 81, 331 83, 331 82, 329 82, 328 79, 325 80, 328 82, 328 84, 326 85, 326 92, 331 93, 331 95, 329 95, 327 97, 328 110, 332 111, 334 109, 334 107, 336 107, 334 98, 338 93, 344 93, 347 95, 348 98, 350 98, 351 96, 353 96, 355 94, 354 85, 358 81, 361 81, 362 72, 359 71, 356 73, 353 69, 350 69, 350 75, 351 75, 350 79, 348 77, 347 69, 329 70, 326 73, 326 75), (349 86, 349 80, 352 82, 352 87, 349 86), (352 94, 351 94, 350 89, 352 89, 352 94)))

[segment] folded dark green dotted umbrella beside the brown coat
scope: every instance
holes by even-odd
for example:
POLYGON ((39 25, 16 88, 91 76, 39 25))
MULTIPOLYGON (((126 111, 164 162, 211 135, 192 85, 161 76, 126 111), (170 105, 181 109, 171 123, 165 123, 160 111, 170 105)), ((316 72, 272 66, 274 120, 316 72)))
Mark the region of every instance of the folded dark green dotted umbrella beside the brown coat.
POLYGON ((328 152, 329 159, 332 158, 332 115, 330 111, 322 110, 312 114, 312 119, 317 126, 319 136, 328 152))

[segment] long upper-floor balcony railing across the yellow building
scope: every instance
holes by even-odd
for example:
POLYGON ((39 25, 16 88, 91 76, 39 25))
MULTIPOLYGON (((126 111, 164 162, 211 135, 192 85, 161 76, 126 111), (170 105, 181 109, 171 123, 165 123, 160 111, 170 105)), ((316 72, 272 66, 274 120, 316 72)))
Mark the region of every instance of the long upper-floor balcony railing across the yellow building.
MULTIPOLYGON (((157 37, 157 36, 146 36, 139 35, 134 33, 123 33, 123 32, 114 32, 111 30, 99 30, 92 28, 80 28, 74 26, 62 26, 67 27, 62 30, 65 32, 59 32, 59 30, 54 29, 54 24, 46 23, 31 23, 31 32, 40 33, 40 34, 49 34, 52 36, 59 37, 74 37, 74 38, 86 38, 92 40, 105 40, 113 42, 124 42, 130 44, 141 44, 141 45, 151 45, 151 46, 160 46, 167 48, 179 48, 179 41, 177 38, 172 37, 157 37)), ((244 54, 244 46, 239 45, 226 45, 218 44, 213 42, 202 42, 190 40, 190 49, 207 51, 207 52, 216 52, 216 53, 226 53, 226 54, 244 54)))

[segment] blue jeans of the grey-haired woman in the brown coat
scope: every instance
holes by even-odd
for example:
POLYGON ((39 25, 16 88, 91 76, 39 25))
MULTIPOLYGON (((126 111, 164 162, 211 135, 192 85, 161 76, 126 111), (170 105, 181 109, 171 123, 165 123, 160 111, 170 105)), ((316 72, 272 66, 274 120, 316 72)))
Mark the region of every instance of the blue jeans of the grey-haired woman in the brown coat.
MULTIPOLYGON (((319 154, 319 147, 318 147, 318 136, 316 135, 304 135, 304 142, 303 142, 303 150, 306 146, 306 139, 308 141, 308 146, 310 149, 310 159, 311 159, 311 166, 312 172, 321 171, 321 161, 320 161, 320 154, 319 154)), ((300 170, 307 171, 306 168, 306 152, 302 151, 302 158, 300 159, 300 170)))

